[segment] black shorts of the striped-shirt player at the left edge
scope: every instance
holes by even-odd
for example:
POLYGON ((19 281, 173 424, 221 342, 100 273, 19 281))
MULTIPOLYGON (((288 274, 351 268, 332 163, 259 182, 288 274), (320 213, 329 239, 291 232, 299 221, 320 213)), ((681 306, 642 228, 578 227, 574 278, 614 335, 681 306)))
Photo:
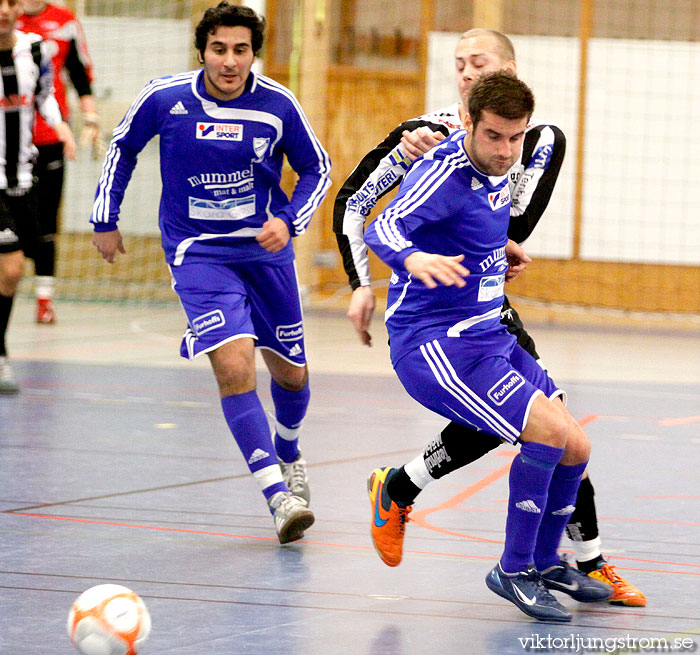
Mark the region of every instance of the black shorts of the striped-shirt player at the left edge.
POLYGON ((0 254, 22 250, 32 258, 39 233, 36 193, 14 195, 0 189, 0 254))

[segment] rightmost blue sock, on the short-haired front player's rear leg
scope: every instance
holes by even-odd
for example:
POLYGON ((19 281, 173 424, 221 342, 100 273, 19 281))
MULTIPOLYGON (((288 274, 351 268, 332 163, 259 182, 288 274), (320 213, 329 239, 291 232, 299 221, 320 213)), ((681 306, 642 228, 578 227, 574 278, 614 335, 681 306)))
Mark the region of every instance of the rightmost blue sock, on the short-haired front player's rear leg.
POLYGON ((587 463, 574 466, 557 464, 554 469, 547 494, 547 507, 542 516, 535 544, 535 567, 538 571, 544 571, 550 566, 559 564, 557 548, 566 524, 576 509, 576 494, 587 463))

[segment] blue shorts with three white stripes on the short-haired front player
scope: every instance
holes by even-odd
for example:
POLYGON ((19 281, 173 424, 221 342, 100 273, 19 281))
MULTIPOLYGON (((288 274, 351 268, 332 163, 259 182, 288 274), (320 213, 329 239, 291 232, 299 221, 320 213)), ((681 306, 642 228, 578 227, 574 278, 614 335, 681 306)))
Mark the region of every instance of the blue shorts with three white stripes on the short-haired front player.
POLYGON ((515 443, 535 398, 566 394, 505 328, 478 338, 444 337, 401 358, 396 373, 421 405, 515 443))

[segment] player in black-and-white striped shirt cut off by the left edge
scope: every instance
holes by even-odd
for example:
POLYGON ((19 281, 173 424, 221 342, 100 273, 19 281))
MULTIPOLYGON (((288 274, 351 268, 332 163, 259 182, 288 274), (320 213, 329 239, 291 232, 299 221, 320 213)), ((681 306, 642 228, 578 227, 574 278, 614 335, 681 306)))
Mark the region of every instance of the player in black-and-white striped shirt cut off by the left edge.
POLYGON ((36 250, 39 226, 32 192, 35 106, 75 157, 75 142, 53 95, 47 43, 15 31, 21 0, 0 0, 0 393, 19 386, 7 360, 5 334, 25 254, 36 250))

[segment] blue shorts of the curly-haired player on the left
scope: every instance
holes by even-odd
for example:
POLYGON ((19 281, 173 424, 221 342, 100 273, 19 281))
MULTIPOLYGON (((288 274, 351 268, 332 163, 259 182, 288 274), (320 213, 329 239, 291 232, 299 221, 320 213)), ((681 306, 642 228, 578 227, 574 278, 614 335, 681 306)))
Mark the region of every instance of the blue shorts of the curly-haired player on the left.
POLYGON ((295 366, 306 364, 296 264, 185 262, 172 266, 187 314, 180 354, 193 359, 250 337, 295 366))

